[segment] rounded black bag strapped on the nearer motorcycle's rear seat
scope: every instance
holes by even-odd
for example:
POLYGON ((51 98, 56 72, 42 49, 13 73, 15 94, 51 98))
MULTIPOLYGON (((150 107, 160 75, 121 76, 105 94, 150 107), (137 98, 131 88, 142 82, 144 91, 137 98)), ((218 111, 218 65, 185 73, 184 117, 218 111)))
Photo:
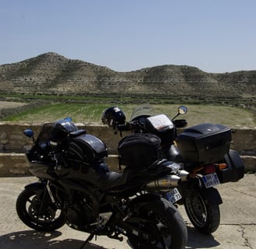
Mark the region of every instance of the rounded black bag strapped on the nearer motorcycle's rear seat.
POLYGON ((127 135, 119 141, 119 165, 126 167, 150 167, 162 160, 161 139, 151 133, 127 135))

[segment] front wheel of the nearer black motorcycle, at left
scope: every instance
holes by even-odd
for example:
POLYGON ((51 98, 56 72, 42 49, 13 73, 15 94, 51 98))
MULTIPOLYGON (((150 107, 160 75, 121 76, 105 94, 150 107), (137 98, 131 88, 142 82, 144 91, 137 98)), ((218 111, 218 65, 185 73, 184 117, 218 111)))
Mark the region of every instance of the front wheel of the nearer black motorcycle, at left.
POLYGON ((24 189, 17 198, 16 212, 19 218, 27 226, 41 232, 57 230, 66 223, 66 217, 62 210, 57 209, 48 198, 48 203, 40 213, 44 191, 24 189))

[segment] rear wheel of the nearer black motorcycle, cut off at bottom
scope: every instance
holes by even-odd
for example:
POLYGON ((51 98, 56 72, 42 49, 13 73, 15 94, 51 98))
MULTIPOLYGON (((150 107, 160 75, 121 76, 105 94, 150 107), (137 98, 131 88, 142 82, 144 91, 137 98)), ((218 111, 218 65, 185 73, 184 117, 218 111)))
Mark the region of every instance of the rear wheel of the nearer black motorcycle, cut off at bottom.
MULTIPOLYGON (((183 249, 187 245, 187 226, 174 205, 164 198, 154 199, 136 208, 134 219, 144 235, 127 234, 135 249, 183 249)), ((134 223, 133 223, 134 226, 134 223)))

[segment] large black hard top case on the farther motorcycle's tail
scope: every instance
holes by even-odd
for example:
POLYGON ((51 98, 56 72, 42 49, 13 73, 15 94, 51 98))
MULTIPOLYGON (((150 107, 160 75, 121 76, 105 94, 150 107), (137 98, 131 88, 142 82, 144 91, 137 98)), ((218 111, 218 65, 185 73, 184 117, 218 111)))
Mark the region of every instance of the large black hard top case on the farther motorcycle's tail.
POLYGON ((231 139, 230 128, 205 123, 187 128, 176 142, 185 162, 208 164, 223 160, 231 139))

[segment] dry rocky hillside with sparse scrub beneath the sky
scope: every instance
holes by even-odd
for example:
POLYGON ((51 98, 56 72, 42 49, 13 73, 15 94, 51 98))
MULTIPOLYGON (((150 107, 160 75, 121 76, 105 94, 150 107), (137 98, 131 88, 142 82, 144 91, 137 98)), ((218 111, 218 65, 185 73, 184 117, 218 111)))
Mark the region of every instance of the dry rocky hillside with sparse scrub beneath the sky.
POLYGON ((0 65, 0 86, 0 93, 146 93, 251 98, 256 95, 256 70, 207 73, 186 65, 161 65, 133 72, 115 72, 85 61, 46 53, 0 65))

